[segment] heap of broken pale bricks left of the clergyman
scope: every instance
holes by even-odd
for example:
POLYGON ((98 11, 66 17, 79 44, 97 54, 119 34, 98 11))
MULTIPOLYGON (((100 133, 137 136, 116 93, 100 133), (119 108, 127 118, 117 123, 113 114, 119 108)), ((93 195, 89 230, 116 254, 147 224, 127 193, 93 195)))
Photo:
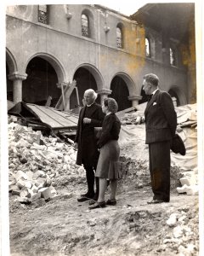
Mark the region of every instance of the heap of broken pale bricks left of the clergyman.
POLYGON ((47 201, 57 195, 56 180, 64 182, 80 177, 84 169, 77 166, 77 152, 72 145, 56 137, 42 137, 41 131, 8 119, 9 192, 21 203, 47 201))

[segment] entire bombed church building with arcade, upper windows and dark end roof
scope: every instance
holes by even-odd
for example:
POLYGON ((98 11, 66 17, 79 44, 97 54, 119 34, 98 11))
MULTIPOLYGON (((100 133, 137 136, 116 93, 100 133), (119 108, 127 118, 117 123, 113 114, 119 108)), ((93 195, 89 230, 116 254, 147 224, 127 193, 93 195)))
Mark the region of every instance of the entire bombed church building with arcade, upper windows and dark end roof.
POLYGON ((73 109, 93 88, 122 110, 146 101, 145 73, 178 106, 196 101, 194 3, 150 3, 130 17, 98 4, 15 5, 6 26, 8 101, 43 106, 50 97, 55 107, 67 90, 73 109))

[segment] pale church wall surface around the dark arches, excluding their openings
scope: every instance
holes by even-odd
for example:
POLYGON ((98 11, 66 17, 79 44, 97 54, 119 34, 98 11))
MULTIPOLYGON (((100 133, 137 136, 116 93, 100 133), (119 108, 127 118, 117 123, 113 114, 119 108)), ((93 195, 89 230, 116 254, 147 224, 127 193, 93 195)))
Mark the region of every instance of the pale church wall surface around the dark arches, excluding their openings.
POLYGON ((148 59, 144 55, 144 28, 124 15, 99 5, 49 5, 49 23, 42 24, 37 21, 37 8, 37 5, 16 5, 7 9, 8 79, 13 81, 14 93, 19 90, 14 101, 20 101, 20 81, 26 83, 29 75, 26 68, 38 56, 54 67, 59 85, 67 85, 78 68, 86 68, 94 76, 101 98, 111 94, 112 80, 120 77, 127 85, 128 101, 135 106, 141 98, 144 74, 157 73, 161 89, 177 86, 181 91, 178 94, 181 104, 188 102, 186 71, 182 66, 175 68, 164 64, 159 33, 154 32, 156 51, 148 59), (90 18, 90 38, 82 36, 83 11, 90 18), (71 14, 69 18, 68 13, 71 14), (118 24, 122 26, 123 48, 116 47, 118 24), (105 31, 105 26, 110 27, 110 31, 105 31))

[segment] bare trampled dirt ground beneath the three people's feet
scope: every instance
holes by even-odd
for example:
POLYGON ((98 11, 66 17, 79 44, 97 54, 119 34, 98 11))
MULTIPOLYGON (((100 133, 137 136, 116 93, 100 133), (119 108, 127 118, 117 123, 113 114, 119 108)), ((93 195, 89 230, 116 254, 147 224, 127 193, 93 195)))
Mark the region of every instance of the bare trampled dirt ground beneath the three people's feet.
POLYGON ((197 195, 178 195, 172 189, 169 203, 148 205, 150 186, 135 188, 128 177, 119 183, 116 207, 88 210, 88 201, 77 202, 86 190, 85 179, 56 190, 58 195, 42 206, 20 204, 10 195, 12 256, 198 255, 197 195), (173 227, 166 223, 173 212, 187 216, 184 224, 190 232, 179 238, 173 238, 173 227), (194 253, 180 254, 189 244, 194 253))

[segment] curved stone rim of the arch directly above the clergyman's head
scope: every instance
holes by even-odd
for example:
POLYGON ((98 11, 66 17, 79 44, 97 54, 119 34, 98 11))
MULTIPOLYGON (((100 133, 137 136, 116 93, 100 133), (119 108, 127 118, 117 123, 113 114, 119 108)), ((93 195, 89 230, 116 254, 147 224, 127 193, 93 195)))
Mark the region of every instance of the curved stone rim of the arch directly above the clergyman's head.
POLYGON ((105 81, 104 81, 101 73, 99 72, 99 69, 97 69, 96 67, 94 67, 94 65, 91 65, 89 63, 82 63, 78 67, 76 67, 76 69, 73 72, 72 79, 74 78, 74 74, 77 72, 77 69, 80 67, 87 69, 90 73, 93 74, 98 90, 102 90, 105 87, 104 86, 105 81))

